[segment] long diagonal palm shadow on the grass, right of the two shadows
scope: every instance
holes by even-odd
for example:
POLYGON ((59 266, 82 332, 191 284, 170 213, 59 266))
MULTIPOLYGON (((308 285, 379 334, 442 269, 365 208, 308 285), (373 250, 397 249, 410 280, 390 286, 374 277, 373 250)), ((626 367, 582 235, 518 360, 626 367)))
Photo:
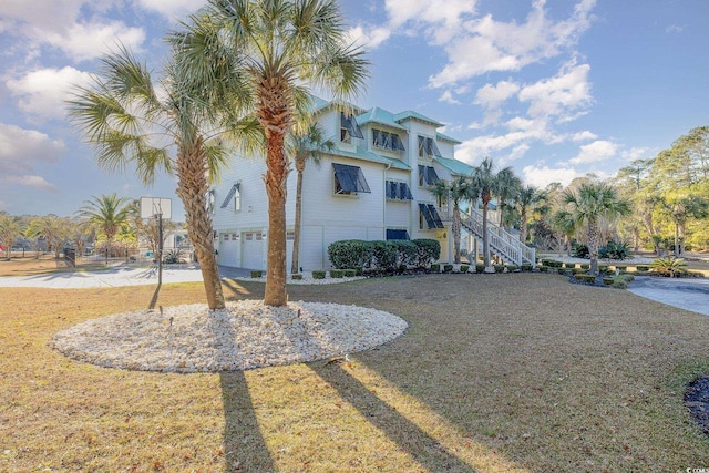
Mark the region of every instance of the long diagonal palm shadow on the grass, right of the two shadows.
POLYGON ((379 399, 345 369, 333 363, 310 368, 372 425, 387 434, 428 471, 475 472, 472 466, 448 452, 435 439, 379 399))

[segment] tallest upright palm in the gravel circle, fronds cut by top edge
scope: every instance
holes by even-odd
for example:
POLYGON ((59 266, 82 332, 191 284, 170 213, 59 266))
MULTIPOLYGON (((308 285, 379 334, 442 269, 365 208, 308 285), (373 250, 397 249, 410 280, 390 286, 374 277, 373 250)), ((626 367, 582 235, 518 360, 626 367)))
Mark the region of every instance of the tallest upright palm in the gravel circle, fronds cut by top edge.
MULTIPOLYGON (((368 78, 361 50, 347 44, 336 0, 210 0, 173 44, 205 89, 230 92, 244 119, 260 125, 265 138, 268 196, 268 267, 264 304, 285 306, 286 136, 305 111, 308 88, 345 101, 368 78)), ((235 136, 244 151, 249 140, 235 136)))

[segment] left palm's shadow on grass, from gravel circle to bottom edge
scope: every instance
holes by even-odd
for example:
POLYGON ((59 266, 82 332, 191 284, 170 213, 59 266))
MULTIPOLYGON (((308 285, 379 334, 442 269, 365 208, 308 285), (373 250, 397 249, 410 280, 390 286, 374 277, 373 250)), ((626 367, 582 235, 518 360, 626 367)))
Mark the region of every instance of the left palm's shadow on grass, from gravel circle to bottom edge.
POLYGON ((260 433, 243 371, 219 373, 224 405, 225 472, 270 472, 274 461, 260 433))

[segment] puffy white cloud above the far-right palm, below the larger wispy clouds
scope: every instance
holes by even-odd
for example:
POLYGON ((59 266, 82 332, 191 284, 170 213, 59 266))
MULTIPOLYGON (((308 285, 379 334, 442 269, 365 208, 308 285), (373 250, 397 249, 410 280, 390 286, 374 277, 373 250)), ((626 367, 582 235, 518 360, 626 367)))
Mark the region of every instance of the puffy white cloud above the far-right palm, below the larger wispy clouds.
POLYGON ((592 102, 588 64, 566 64, 557 75, 525 85, 520 91, 522 102, 530 102, 531 116, 569 117, 569 112, 592 102))

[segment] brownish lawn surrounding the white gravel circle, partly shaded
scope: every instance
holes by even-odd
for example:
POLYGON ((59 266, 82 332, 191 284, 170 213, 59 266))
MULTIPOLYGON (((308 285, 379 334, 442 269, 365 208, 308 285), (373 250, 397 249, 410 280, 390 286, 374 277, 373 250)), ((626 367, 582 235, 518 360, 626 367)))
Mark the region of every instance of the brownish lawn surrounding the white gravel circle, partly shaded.
MULTIPOLYGON (((350 362, 163 374, 47 347, 146 308, 153 287, 0 288, 0 471, 576 472, 707 466, 682 404, 709 372, 709 318, 544 274, 289 287, 409 330, 350 362), (504 292, 503 292, 504 291, 504 292), (549 296, 553 295, 553 296, 549 296)), ((225 282, 230 299, 264 285, 225 282)), ((165 285, 158 305, 204 301, 165 285)))

